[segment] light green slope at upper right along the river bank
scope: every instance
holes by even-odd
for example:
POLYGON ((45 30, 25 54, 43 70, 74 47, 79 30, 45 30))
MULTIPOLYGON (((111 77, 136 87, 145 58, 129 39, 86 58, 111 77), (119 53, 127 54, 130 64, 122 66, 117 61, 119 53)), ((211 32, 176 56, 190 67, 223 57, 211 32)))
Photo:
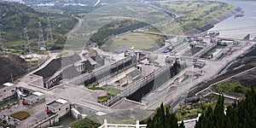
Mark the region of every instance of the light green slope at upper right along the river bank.
MULTIPOLYGON (((195 27, 207 25, 207 22, 224 15, 235 9, 235 6, 221 2, 172 2, 172 3, 155 3, 165 9, 169 9, 178 15, 183 15, 178 18, 176 23, 164 23, 157 28, 163 27, 166 33, 178 34, 176 27, 181 27, 183 32, 189 31, 195 27), (169 29, 169 31, 168 31, 169 29)), ((179 29, 178 29, 179 30, 179 29)), ((151 31, 149 29, 149 31, 151 31)))

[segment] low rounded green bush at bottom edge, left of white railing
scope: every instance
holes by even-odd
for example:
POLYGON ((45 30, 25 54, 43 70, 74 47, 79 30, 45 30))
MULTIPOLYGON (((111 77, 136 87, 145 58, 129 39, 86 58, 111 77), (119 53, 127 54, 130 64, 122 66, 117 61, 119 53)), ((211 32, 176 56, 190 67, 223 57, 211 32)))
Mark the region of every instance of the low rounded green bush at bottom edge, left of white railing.
POLYGON ((81 119, 78 122, 74 123, 72 125, 72 128, 97 128, 100 125, 101 124, 99 124, 93 120, 85 118, 85 119, 81 119))

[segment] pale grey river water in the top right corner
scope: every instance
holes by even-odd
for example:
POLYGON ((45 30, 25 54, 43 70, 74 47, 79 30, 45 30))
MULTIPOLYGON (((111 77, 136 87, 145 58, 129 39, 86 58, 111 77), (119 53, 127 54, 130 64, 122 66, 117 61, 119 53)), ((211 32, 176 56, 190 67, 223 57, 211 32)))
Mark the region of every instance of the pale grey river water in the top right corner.
MULTIPOLYGON (((239 6, 244 10, 243 17, 234 16, 218 23, 211 30, 219 31, 220 38, 244 38, 247 34, 251 34, 251 39, 256 36, 256 1, 233 1, 221 0, 224 3, 230 3, 239 6)), ((210 30, 210 31, 211 31, 210 30)))

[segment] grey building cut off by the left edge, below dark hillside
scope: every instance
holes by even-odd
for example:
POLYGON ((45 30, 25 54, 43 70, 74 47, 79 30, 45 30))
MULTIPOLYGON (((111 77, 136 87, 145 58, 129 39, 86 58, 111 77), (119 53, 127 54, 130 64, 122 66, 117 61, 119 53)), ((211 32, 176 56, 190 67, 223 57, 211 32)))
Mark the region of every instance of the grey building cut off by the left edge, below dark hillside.
POLYGON ((0 84, 0 102, 3 102, 6 99, 9 99, 16 94, 16 88, 14 84, 5 83, 0 84))

